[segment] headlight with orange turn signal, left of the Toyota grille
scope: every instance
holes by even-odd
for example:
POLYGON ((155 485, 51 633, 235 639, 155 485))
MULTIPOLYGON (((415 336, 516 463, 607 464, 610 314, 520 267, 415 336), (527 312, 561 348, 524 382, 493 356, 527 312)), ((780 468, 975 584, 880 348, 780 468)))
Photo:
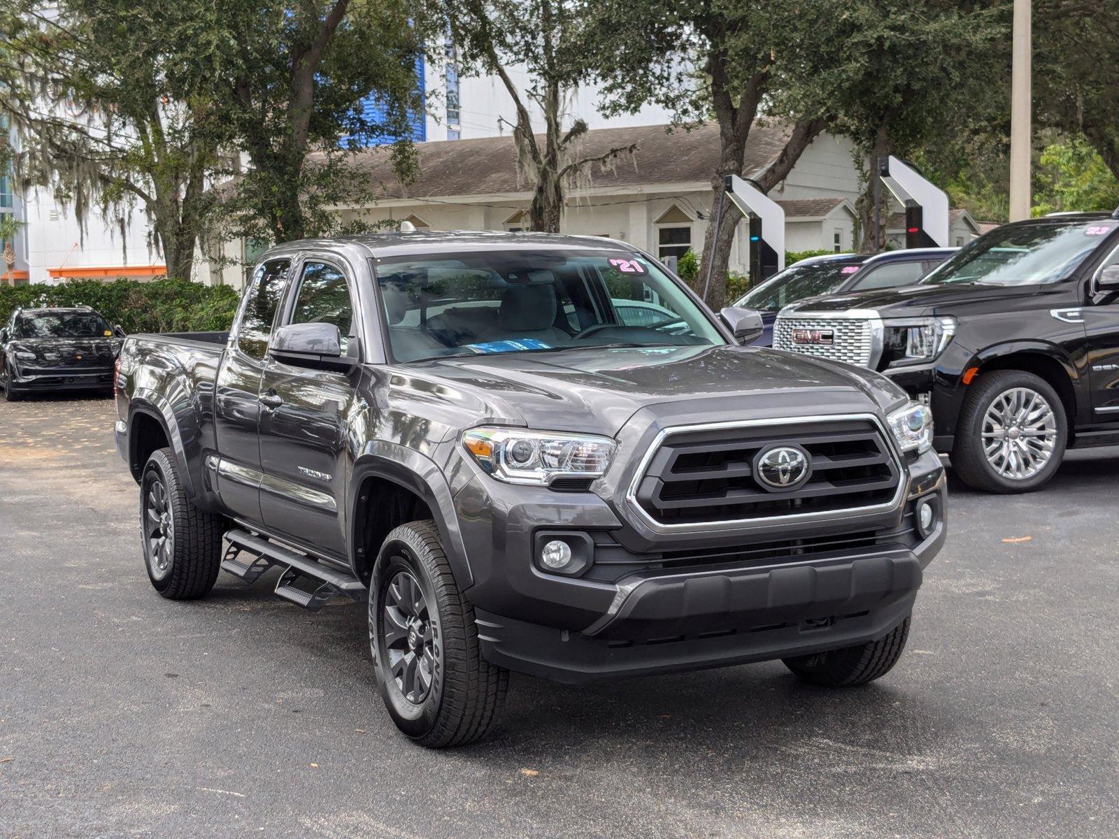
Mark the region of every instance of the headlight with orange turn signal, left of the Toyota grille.
POLYGON ((480 427, 462 445, 487 473, 506 483, 547 486, 558 477, 600 478, 617 444, 593 434, 480 427))

